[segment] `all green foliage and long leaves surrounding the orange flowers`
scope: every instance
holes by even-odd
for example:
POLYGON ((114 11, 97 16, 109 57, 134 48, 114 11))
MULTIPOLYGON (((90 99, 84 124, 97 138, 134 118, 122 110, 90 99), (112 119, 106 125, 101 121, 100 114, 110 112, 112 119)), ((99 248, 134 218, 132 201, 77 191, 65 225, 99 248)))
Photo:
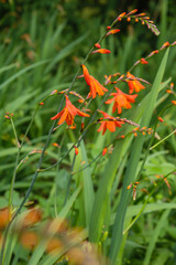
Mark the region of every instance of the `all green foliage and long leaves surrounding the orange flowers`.
MULTIPOLYGON (((77 1, 3 3, 4 14, 0 22, 0 205, 12 204, 14 211, 20 209, 23 213, 31 203, 43 210, 44 220, 67 219, 69 226, 86 231, 77 244, 96 243, 99 253, 109 256, 112 265, 173 264, 176 112, 170 105, 174 95, 166 94, 166 89, 176 78, 175 47, 148 59, 148 65, 134 67, 133 74, 148 84, 140 92, 132 109, 124 110, 121 116, 139 124, 140 128, 151 127, 156 135, 139 132, 134 138, 132 124, 124 124, 117 132, 98 134, 100 115, 97 109, 111 115, 111 106, 106 110, 103 104, 106 97, 96 98, 96 103, 90 100, 86 106, 92 123, 82 120, 85 130, 80 131, 80 126, 70 130, 62 125, 53 131, 56 124, 52 124, 51 117, 63 108, 63 94, 59 93, 73 86, 76 73, 81 74, 82 57, 103 35, 102 22, 113 15, 111 8, 118 4, 118 1, 97 2, 97 7, 94 1, 88 1, 87 6, 77 1), (53 93, 55 89, 58 95, 53 93), (40 105, 41 102, 44 105, 40 105), (14 113, 14 128, 4 119, 6 113, 14 113), (157 116, 162 116, 163 124, 157 121, 157 116), (122 135, 125 137, 121 138, 122 135), (150 150, 151 145, 153 149, 150 150), (102 156, 105 147, 108 152, 102 156), (136 181, 140 184, 133 200, 136 181)), ((141 3, 134 3, 141 8, 141 3)), ((162 1, 161 6, 153 6, 153 1, 148 1, 145 4, 156 18, 161 14, 162 34, 151 38, 147 26, 133 21, 131 24, 120 22, 117 26, 121 26, 121 34, 101 42, 111 54, 90 55, 86 64, 101 84, 105 74, 125 74, 139 59, 166 41, 175 41, 176 20, 170 19, 173 3, 162 1)), ((118 86, 125 91, 125 84, 121 82, 118 86)), ((112 85, 107 87, 109 93, 113 89, 112 85)), ((88 86, 81 78, 76 80, 73 91, 86 97, 88 86)), ((74 95, 70 98, 74 105, 80 106, 74 95)), ((31 253, 21 250, 12 231, 13 225, 1 264, 69 264, 62 257, 75 245, 68 244, 56 255, 47 255, 47 241, 42 241, 31 253)))

